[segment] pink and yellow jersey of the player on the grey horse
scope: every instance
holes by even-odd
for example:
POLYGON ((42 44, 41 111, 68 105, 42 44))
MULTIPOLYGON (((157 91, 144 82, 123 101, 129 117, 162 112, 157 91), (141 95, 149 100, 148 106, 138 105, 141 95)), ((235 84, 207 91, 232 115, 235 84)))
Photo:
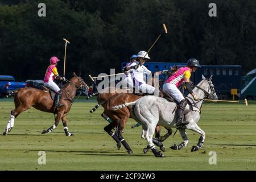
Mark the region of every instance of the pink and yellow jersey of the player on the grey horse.
POLYGON ((184 77, 189 79, 190 76, 190 68, 181 67, 174 73, 174 75, 167 78, 166 83, 175 84, 178 87, 184 81, 184 77))

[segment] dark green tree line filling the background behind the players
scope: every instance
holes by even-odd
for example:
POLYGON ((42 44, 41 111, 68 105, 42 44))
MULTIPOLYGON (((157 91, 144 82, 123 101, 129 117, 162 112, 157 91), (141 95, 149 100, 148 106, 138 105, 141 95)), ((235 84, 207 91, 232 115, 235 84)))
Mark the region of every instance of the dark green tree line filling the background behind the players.
POLYGON ((56 55, 66 77, 121 72, 121 62, 147 51, 150 61, 242 65, 243 74, 256 67, 256 1, 216 0, 210 17, 208 0, 44 0, 46 17, 33 0, 0 0, 0 75, 17 80, 43 79, 49 58, 56 55))

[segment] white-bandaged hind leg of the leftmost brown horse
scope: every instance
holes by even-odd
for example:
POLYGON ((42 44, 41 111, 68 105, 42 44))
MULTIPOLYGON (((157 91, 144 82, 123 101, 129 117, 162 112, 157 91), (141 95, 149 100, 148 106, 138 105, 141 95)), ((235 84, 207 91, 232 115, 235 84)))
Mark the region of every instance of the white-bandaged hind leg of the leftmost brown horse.
POLYGON ((11 117, 9 119, 9 122, 7 123, 5 132, 3 132, 3 135, 7 135, 8 133, 11 132, 11 130, 14 127, 14 120, 16 117, 18 117, 18 115, 20 113, 22 113, 23 111, 26 111, 27 109, 30 109, 30 107, 28 106, 24 106, 24 105, 20 105, 18 107, 16 107, 16 109, 11 110, 11 117))

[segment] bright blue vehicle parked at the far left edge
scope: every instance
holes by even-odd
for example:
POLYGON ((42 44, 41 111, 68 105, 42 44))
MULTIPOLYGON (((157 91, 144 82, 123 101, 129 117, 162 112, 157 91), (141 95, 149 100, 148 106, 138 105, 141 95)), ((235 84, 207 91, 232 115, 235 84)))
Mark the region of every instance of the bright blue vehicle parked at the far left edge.
POLYGON ((0 75, 0 97, 5 97, 12 90, 27 87, 26 82, 15 82, 13 76, 0 75))

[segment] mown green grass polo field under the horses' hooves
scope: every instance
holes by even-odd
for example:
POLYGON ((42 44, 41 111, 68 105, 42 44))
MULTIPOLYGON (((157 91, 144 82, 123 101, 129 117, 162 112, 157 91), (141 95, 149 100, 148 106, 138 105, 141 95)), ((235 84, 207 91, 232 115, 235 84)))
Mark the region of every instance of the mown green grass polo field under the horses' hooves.
MULTIPOLYGON (((143 154, 147 142, 141 138, 141 127, 131 129, 127 122, 123 137, 133 149, 127 154, 122 146, 104 131, 108 124, 100 114, 89 110, 96 102, 74 102, 68 114, 69 131, 65 137, 62 123, 49 134, 43 129, 53 124, 53 114, 34 108, 19 115, 13 131, 0 135, 0 170, 255 170, 256 169, 256 104, 203 105, 199 126, 205 131, 203 148, 190 152, 199 134, 187 131, 189 143, 180 151, 169 147, 182 141, 179 132, 164 144, 165 158, 155 158, 151 151, 143 154), (38 164, 38 152, 46 152, 46 165, 38 164), (217 164, 210 165, 209 152, 216 151, 217 164)), ((0 101, 0 131, 4 131, 14 108, 12 100, 0 101)), ((166 133, 163 130, 162 134, 166 133)))

